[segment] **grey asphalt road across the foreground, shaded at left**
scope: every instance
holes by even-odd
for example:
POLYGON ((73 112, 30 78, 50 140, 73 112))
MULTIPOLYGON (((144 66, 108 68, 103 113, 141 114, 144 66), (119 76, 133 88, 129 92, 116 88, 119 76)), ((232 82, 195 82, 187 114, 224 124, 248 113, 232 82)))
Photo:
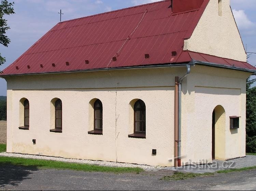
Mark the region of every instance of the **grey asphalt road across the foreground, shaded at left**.
POLYGON ((188 180, 160 180, 172 171, 113 174, 0 166, 0 190, 256 190, 256 170, 188 180))

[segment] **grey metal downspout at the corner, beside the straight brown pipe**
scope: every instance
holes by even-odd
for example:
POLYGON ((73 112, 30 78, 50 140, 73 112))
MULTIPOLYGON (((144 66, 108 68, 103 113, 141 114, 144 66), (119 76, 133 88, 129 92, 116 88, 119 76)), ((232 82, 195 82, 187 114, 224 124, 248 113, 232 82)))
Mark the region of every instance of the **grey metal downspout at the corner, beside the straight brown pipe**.
POLYGON ((177 166, 178 167, 181 167, 181 84, 182 84, 182 81, 185 79, 185 77, 188 76, 188 74, 190 73, 191 71, 191 64, 193 64, 193 66, 195 66, 195 63, 194 63, 194 59, 187 65, 187 72, 184 76, 182 76, 179 80, 179 83, 178 83, 178 140, 177 140, 177 143, 178 143, 178 156, 177 156, 177 166))

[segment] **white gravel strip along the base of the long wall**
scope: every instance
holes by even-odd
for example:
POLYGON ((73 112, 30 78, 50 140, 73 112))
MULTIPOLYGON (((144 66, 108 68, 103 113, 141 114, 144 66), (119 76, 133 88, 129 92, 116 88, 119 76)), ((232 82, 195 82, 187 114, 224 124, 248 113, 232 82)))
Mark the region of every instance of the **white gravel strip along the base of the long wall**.
POLYGON ((116 162, 109 162, 109 161, 95 161, 95 160, 82 160, 82 159, 68 159, 68 158, 61 158, 61 157, 25 155, 25 154, 17 154, 17 153, 0 153, 0 156, 55 160, 55 161, 74 162, 74 163, 96 164, 96 165, 99 165, 99 166, 109 166, 109 167, 131 167, 131 168, 138 167, 138 168, 147 169, 147 170, 160 169, 160 167, 153 167, 153 166, 140 165, 140 164, 129 164, 129 163, 120 163, 120 162, 116 163, 116 162))

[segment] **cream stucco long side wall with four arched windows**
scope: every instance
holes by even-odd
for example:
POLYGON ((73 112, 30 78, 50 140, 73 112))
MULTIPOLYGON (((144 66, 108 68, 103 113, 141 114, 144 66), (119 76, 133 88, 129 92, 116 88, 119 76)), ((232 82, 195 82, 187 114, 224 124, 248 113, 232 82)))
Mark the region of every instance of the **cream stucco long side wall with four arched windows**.
POLYGON ((112 77, 109 72, 10 77, 6 79, 7 151, 116 161, 115 115, 118 115, 117 161, 173 166, 169 159, 174 153, 174 77, 185 71, 185 68, 140 69, 113 71, 112 77), (29 131, 18 129, 21 98, 30 103, 29 131), (62 100, 63 133, 49 132, 54 98, 62 100), (90 101, 95 98, 103 104, 103 135, 88 134, 92 130, 90 101), (134 99, 146 104, 146 139, 128 138, 133 131, 130 121, 133 118, 129 115, 134 99), (36 144, 32 139, 36 139, 36 144), (156 156, 152 155, 152 149, 157 149, 156 156))

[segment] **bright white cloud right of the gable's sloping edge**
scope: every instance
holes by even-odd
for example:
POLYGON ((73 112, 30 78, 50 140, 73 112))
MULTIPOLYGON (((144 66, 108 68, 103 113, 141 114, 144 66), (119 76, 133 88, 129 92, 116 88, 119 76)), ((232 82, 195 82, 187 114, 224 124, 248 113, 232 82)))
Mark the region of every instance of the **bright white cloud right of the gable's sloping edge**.
POLYGON ((237 11, 234 9, 233 14, 239 29, 250 29, 255 26, 255 23, 248 19, 247 15, 243 10, 237 11))

